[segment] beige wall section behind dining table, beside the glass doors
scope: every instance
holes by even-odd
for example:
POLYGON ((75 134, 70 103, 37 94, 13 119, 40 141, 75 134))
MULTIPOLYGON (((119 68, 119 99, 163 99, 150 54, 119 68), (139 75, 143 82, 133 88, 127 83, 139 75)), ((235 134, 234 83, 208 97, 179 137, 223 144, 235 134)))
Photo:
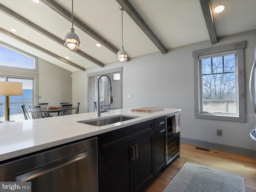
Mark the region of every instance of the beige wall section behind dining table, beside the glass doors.
POLYGON ((38 58, 38 73, 39 103, 49 103, 48 106, 60 106, 60 102, 72 104, 72 72, 38 58))

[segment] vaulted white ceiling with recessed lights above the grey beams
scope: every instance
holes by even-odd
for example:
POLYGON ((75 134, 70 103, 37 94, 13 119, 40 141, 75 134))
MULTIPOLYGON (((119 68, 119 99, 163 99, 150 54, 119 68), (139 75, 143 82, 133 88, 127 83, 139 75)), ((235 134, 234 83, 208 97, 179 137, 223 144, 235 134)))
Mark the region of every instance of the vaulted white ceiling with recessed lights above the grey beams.
POLYGON ((220 37, 256 29, 255 0, 210 0, 211 9, 226 5, 224 12, 212 12, 215 31, 206 25, 212 21, 205 18, 210 12, 208 0, 74 0, 73 4, 74 29, 81 41, 76 52, 67 50, 62 42, 71 28, 71 0, 0 0, 0 41, 74 72, 117 61, 116 52, 122 44, 120 4, 124 8, 124 49, 130 60, 152 52, 164 54, 164 49, 212 42, 211 32, 218 42, 220 37), (129 5, 135 11, 129 10, 129 5), (98 42, 103 46, 97 47, 98 42), (157 44, 162 44, 163 50, 157 44))

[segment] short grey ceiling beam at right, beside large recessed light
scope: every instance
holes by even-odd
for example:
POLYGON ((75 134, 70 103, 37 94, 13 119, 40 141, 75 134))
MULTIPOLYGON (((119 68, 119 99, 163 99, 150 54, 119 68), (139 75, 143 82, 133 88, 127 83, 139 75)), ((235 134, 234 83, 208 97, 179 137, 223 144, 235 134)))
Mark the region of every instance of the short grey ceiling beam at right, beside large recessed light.
POLYGON ((211 8, 210 0, 200 0, 200 4, 203 11, 204 20, 208 29, 211 43, 212 44, 218 43, 213 16, 212 16, 212 8, 211 8))

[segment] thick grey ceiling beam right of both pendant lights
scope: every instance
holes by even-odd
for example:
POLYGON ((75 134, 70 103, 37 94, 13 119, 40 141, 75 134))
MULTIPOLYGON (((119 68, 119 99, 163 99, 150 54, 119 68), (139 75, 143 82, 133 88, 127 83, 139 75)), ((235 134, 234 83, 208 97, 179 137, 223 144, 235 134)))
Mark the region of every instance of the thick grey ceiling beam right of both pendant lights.
POLYGON ((139 28, 148 36, 148 38, 155 44, 155 46, 162 52, 166 54, 167 50, 162 44, 162 42, 157 38, 154 32, 149 28, 146 22, 141 18, 134 7, 128 2, 128 0, 116 0, 118 4, 123 8, 123 10, 132 18, 132 20, 139 26, 139 28))

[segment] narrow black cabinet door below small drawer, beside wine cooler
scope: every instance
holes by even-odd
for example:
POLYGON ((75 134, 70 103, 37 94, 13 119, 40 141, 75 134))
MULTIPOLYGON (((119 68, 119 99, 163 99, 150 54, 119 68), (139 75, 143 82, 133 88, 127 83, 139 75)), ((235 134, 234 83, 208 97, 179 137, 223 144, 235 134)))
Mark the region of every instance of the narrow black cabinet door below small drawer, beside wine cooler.
POLYGON ((157 175, 164 167, 166 160, 166 136, 165 128, 154 132, 155 134, 155 175, 157 175))

